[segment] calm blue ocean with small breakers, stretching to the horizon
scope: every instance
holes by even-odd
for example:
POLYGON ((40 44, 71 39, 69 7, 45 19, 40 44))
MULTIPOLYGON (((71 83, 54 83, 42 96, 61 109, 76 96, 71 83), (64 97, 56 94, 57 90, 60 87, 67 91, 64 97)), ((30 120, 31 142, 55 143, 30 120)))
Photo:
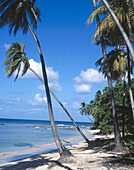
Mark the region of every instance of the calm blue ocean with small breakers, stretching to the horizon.
MULTIPOLYGON (((55 123, 61 140, 80 136, 72 122, 55 123)), ((84 133, 92 126, 92 123, 76 123, 84 133)), ((0 153, 24 150, 48 143, 54 143, 50 121, 0 119, 0 153)))

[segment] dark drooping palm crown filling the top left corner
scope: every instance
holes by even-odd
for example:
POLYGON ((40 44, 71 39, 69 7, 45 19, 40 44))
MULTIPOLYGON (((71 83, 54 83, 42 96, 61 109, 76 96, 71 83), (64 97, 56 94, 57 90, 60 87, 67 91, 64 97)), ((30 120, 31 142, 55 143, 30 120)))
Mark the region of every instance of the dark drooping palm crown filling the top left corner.
POLYGON ((16 34, 21 28, 23 33, 28 31, 31 22, 37 28, 40 20, 40 10, 34 5, 35 0, 0 0, 0 27, 9 24, 9 32, 16 34))

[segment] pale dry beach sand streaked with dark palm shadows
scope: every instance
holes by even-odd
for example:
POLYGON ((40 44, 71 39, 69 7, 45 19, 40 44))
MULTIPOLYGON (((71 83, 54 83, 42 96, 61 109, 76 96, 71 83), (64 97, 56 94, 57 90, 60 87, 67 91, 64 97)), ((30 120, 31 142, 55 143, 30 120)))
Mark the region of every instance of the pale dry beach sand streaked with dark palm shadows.
MULTIPOLYGON (((94 137, 90 139, 109 139, 113 138, 113 135, 102 135, 99 130, 90 130, 94 137)), ((93 142, 95 143, 95 142, 93 142)), ((98 147, 88 146, 85 141, 78 144, 67 146, 67 148, 73 153, 74 157, 60 161, 57 150, 51 152, 38 154, 26 159, 14 161, 10 163, 0 164, 1 170, 131 170, 134 169, 133 165, 128 165, 122 158, 122 152, 95 152, 98 147), (118 161, 120 160, 121 161, 118 161)), ((126 154, 126 153, 124 153, 126 154)), ((134 162, 134 159, 131 158, 134 162)))

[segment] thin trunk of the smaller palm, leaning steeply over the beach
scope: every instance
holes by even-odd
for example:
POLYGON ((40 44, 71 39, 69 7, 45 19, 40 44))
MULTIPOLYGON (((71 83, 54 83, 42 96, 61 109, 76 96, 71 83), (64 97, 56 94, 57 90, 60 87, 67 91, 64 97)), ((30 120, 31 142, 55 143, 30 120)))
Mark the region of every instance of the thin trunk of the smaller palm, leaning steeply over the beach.
MULTIPOLYGON (((38 74, 29 67, 29 70, 32 71, 36 77, 45 85, 45 82, 38 76, 38 74)), ((88 138, 84 135, 84 133, 81 131, 81 129, 79 128, 79 126, 76 124, 76 122, 73 120, 73 118, 71 117, 71 115, 69 114, 69 112, 67 111, 67 109, 64 107, 64 105, 59 101, 59 99, 56 97, 56 95, 51 91, 51 89, 49 88, 49 91, 51 92, 51 94, 55 97, 55 99, 57 100, 57 102, 60 104, 60 106, 63 108, 63 110, 67 113, 68 117, 71 119, 71 121, 73 122, 74 126, 76 127, 76 129, 79 131, 79 133, 81 134, 81 136, 85 139, 85 141, 90 144, 90 141, 88 140, 88 138)), ((91 120, 92 121, 92 120, 91 120)))

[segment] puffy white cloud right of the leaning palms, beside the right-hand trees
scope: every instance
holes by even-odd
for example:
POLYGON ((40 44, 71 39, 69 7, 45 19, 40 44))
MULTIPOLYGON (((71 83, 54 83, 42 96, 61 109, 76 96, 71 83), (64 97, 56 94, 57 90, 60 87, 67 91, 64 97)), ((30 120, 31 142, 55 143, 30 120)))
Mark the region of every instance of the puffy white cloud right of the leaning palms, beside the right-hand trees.
POLYGON ((97 70, 90 68, 86 71, 82 70, 80 75, 74 78, 74 81, 74 91, 84 94, 91 92, 92 83, 102 83, 105 79, 97 70))

